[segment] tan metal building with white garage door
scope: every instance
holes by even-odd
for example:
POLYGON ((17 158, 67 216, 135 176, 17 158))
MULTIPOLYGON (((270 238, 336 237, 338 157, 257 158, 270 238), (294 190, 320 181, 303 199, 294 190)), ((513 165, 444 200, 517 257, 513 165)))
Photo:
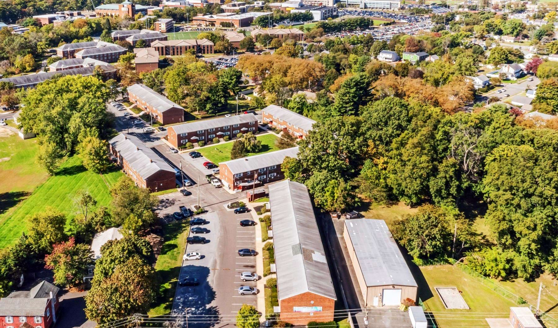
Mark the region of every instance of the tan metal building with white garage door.
POLYGON ((417 300, 417 283, 383 220, 345 221, 343 232, 365 306, 417 300))

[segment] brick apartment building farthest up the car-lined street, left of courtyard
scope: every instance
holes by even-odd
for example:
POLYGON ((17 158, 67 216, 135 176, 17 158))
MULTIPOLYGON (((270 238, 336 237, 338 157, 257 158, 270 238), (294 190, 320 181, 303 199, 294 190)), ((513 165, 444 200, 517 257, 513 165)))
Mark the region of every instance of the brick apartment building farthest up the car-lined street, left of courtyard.
POLYGON ((143 84, 129 86, 128 99, 163 125, 184 121, 184 107, 143 84))

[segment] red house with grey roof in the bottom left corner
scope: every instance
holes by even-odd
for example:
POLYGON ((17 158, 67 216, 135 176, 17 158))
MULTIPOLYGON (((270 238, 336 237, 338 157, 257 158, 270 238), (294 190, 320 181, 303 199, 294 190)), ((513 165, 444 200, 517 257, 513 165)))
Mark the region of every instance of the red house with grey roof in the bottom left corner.
POLYGON ((0 298, 0 327, 17 328, 25 323, 50 328, 58 315, 60 288, 42 281, 30 291, 16 291, 0 298))

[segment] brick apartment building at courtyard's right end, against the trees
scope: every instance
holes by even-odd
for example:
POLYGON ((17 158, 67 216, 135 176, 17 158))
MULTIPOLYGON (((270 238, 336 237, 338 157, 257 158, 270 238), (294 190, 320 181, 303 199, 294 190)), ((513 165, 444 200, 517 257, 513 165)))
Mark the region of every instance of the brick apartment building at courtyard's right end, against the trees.
POLYGON ((297 138, 304 138, 316 121, 285 107, 269 105, 262 109, 262 123, 267 123, 274 129, 282 129, 297 138))

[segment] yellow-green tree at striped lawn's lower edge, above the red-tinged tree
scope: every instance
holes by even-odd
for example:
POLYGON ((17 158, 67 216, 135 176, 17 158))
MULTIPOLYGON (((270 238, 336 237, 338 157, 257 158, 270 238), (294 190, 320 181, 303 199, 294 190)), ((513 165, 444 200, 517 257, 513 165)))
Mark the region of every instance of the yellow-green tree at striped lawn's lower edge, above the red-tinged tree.
POLYGON ((52 245, 66 238, 66 216, 50 206, 45 208, 45 212, 33 214, 29 224, 28 242, 37 253, 52 252, 52 245))

